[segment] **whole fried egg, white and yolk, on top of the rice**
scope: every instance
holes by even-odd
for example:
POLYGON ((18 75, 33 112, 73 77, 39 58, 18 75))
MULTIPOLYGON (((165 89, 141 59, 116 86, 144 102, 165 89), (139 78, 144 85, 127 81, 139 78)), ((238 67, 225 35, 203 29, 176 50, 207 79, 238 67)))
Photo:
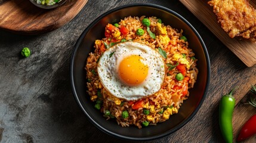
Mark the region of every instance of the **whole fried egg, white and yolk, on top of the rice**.
POLYGON ((162 56, 138 42, 117 43, 98 61, 100 82, 110 94, 128 101, 149 97, 161 89, 165 77, 162 56))

